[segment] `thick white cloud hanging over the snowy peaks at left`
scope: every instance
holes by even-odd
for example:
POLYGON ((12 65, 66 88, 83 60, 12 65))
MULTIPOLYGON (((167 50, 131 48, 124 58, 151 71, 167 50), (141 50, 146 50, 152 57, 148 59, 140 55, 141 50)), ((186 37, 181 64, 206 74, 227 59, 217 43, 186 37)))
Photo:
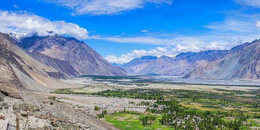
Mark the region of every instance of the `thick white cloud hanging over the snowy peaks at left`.
POLYGON ((27 11, 0 10, 0 17, 0 32, 3 33, 16 31, 46 36, 48 35, 46 30, 52 30, 58 34, 66 34, 77 39, 88 38, 88 31, 75 23, 67 23, 63 20, 51 21, 27 11))

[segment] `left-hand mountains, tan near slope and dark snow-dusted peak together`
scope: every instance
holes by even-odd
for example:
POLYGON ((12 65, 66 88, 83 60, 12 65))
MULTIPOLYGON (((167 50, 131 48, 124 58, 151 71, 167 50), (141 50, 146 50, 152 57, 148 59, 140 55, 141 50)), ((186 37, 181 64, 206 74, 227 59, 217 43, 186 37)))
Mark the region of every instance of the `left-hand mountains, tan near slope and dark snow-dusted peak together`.
POLYGON ((0 32, 1 81, 29 90, 50 92, 66 87, 60 79, 90 75, 126 75, 86 43, 48 31, 49 36, 0 32))

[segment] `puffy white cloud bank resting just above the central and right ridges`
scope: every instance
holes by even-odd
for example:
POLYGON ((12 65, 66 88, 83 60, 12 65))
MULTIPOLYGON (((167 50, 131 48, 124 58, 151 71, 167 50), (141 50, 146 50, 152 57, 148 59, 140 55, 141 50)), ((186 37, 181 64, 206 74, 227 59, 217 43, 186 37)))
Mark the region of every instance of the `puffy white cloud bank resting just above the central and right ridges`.
MULTIPOLYGON (((178 38, 180 41, 182 38, 178 38)), ((189 40, 186 40, 189 41, 189 40)), ((154 49, 151 50, 133 50, 126 54, 121 54, 119 57, 117 57, 115 54, 113 55, 107 55, 105 59, 109 61, 110 63, 128 63, 134 58, 140 58, 142 56, 170 56, 174 57, 177 54, 180 54, 182 52, 199 52, 204 50, 225 50, 225 49, 231 49, 234 44, 237 45, 237 42, 240 41, 240 39, 232 39, 232 38, 223 38, 220 40, 222 44, 220 44, 217 41, 212 41, 209 43, 205 43, 203 40, 199 41, 199 39, 187 42, 185 44, 176 44, 176 45, 166 45, 166 46, 157 46, 154 49)), ((180 43, 184 43, 185 41, 180 41, 180 43)))

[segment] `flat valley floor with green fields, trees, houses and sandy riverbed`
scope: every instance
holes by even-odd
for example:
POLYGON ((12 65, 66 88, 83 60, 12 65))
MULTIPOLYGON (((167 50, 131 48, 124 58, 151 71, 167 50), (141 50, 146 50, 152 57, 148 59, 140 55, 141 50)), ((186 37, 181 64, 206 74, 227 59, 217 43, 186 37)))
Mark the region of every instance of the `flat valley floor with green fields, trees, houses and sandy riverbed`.
POLYGON ((228 122, 242 118, 240 113, 245 118, 243 125, 239 125, 240 129, 260 128, 258 81, 183 79, 178 76, 129 76, 125 79, 84 76, 63 81, 80 87, 34 93, 45 98, 54 96, 56 101, 68 107, 79 109, 121 129, 174 129, 174 121, 183 122, 176 125, 180 129, 194 125, 202 128, 203 125, 197 120, 192 122, 193 118, 189 118, 194 116, 194 112, 199 112, 195 115, 201 119, 203 113, 209 113, 211 119, 221 120, 221 125, 212 124, 212 128, 229 127, 228 122), (160 101, 173 101, 180 112, 170 112, 171 105, 163 105, 160 101), (99 110, 94 110, 94 106, 98 106, 99 110), (106 114, 101 116, 103 110, 106 110, 106 114), (167 119, 162 123, 166 115, 173 117, 169 119, 170 122, 167 119), (148 121, 147 125, 142 125, 141 118, 145 116, 154 116, 155 120, 152 124, 148 121), (251 120, 252 126, 249 125, 251 120))

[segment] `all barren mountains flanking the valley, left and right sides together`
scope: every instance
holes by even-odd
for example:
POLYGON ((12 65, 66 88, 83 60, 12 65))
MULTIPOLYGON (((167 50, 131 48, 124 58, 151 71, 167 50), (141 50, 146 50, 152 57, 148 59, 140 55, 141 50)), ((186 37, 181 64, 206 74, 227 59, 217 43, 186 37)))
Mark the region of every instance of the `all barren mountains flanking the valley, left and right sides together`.
POLYGON ((175 57, 142 56, 125 64, 110 64, 86 43, 53 31, 48 36, 0 33, 1 80, 35 91, 51 91, 59 79, 81 74, 120 76, 128 74, 178 75, 183 78, 260 78, 260 41, 231 50, 180 53, 175 57))

